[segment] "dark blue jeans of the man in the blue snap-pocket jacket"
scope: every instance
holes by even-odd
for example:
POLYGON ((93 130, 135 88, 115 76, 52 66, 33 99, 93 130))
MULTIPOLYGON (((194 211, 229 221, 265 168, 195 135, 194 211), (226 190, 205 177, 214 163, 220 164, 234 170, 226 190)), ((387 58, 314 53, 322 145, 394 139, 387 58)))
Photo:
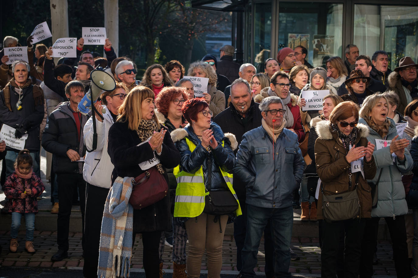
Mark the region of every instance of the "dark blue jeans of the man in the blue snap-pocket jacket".
POLYGON ((242 248, 242 277, 255 277, 257 253, 261 236, 270 220, 274 246, 274 277, 291 277, 290 244, 293 228, 293 207, 261 208, 246 204, 247 234, 242 248))

